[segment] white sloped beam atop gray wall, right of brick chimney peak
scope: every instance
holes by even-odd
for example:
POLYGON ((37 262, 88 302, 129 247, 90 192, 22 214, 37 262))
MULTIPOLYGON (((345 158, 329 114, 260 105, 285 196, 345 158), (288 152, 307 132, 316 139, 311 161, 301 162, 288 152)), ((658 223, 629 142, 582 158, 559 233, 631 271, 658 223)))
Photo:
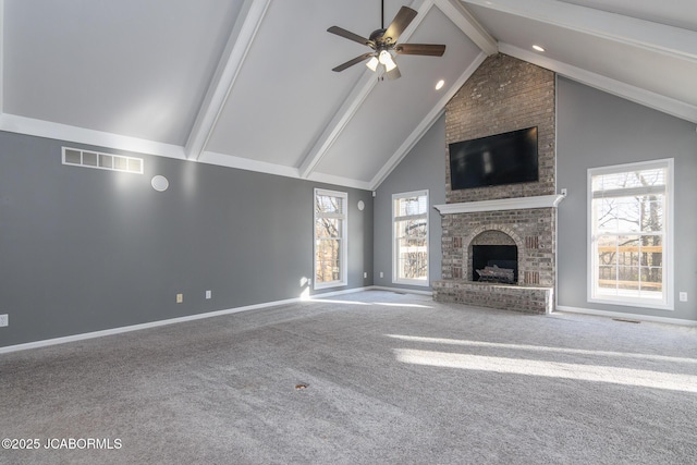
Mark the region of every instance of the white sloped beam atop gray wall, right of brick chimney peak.
POLYGON ((676 100, 664 95, 632 86, 629 84, 572 66, 561 61, 552 60, 539 53, 535 53, 522 48, 499 44, 502 53, 527 61, 541 68, 546 68, 570 79, 577 81, 587 86, 597 88, 608 94, 622 97, 635 103, 652 108, 663 113, 697 123, 697 107, 676 100))

